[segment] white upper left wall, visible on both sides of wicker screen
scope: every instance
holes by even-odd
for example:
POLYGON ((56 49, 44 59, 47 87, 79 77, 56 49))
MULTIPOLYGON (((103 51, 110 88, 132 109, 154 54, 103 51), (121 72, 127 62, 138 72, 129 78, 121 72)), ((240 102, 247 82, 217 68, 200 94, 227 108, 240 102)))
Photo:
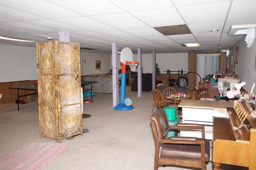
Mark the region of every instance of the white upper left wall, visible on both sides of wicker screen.
MULTIPOLYGON (((0 44, 0 83, 23 80, 37 80, 36 48, 0 44)), ((108 73, 111 70, 111 55, 81 52, 84 75, 108 73), (95 61, 101 61, 101 69, 96 70, 95 61)), ((82 72, 81 64, 81 75, 82 72)))

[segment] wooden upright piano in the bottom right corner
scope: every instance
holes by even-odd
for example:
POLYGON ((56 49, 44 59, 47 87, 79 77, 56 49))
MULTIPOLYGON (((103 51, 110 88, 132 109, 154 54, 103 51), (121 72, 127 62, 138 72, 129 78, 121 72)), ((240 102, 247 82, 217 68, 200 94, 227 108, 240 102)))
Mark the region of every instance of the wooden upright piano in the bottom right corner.
POLYGON ((250 113, 251 109, 244 104, 240 108, 234 103, 234 107, 214 109, 214 170, 220 170, 222 163, 256 170, 256 119, 241 119, 240 114, 246 112, 245 109, 250 113))

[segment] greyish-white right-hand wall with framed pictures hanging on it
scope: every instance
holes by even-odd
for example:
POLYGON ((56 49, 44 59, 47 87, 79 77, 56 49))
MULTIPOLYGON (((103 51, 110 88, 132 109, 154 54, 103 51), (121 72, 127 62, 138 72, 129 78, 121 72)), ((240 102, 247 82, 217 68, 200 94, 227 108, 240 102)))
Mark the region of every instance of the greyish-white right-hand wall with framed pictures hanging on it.
MULTIPOLYGON (((242 39, 230 49, 227 71, 228 73, 238 71, 237 78, 240 79, 240 82, 246 82, 245 88, 250 91, 252 84, 256 83, 256 41, 254 39, 252 46, 247 48, 247 44, 244 42, 245 37, 246 36, 242 37, 242 39), (235 66, 231 67, 231 55, 233 54, 234 59, 236 58, 236 47, 239 48, 238 64, 234 63, 235 66)), ((254 88, 253 92, 256 94, 256 88, 254 88)))

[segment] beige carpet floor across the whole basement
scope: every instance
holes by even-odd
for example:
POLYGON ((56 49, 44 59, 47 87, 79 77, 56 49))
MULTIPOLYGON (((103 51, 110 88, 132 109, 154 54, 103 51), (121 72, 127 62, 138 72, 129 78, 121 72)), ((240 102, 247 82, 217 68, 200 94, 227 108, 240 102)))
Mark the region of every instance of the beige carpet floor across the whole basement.
MULTIPOLYGON (((160 87, 160 92, 163 89, 160 87)), ((177 92, 185 94, 190 91, 177 88, 177 92)), ((132 99, 134 109, 120 111, 112 108, 112 94, 95 94, 94 103, 84 104, 84 113, 92 115, 85 121, 89 133, 72 140, 62 139, 66 147, 42 170, 153 170, 152 91, 142 92, 142 97, 138 98, 137 92, 131 92, 127 86, 126 98, 132 99)), ((56 143, 48 137, 40 139, 38 101, 20 105, 20 111, 16 104, 0 107, 0 129, 0 160, 27 143, 56 143)), ((185 169, 177 166, 159 168, 185 169)), ((212 163, 207 169, 213 169, 212 163)), ((221 169, 235 167, 224 165, 221 169)))

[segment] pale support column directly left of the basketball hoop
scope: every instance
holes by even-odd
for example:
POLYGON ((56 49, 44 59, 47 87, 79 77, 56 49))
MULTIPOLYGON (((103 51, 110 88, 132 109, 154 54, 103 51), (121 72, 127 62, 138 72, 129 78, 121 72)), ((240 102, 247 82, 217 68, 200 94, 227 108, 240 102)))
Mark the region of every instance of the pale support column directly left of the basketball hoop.
POLYGON ((113 89, 113 108, 119 104, 119 86, 118 86, 118 44, 112 45, 112 89, 113 89), (116 75, 114 75, 116 73, 116 75))

